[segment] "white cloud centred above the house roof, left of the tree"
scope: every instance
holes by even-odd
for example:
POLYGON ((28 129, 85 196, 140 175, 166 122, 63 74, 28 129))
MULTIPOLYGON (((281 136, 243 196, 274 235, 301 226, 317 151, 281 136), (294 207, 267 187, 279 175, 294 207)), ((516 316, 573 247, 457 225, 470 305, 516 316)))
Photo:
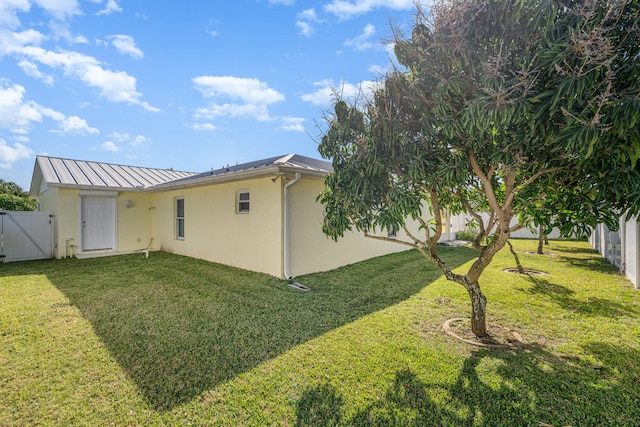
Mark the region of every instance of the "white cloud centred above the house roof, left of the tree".
POLYGON ((232 76, 200 76, 192 81, 205 98, 214 102, 198 108, 196 119, 210 120, 217 117, 250 117, 258 121, 270 120, 268 106, 284 101, 284 95, 271 89, 258 79, 232 76), (231 100, 232 102, 224 102, 231 100))

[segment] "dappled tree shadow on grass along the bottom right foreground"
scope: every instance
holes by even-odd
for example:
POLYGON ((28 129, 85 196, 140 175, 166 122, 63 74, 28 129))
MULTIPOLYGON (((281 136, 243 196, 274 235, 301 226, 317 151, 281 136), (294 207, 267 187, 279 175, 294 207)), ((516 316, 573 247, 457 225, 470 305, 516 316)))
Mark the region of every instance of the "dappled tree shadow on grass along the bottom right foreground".
POLYGON ((309 395, 318 407, 301 410, 298 404, 296 425, 633 425, 640 419, 639 375, 633 365, 637 350, 600 343, 585 349, 601 364, 529 345, 516 351, 474 351, 453 383, 428 383, 410 369, 401 370, 382 398, 348 419, 341 415, 339 392, 316 387, 309 395), (309 412, 331 416, 312 423, 309 412))

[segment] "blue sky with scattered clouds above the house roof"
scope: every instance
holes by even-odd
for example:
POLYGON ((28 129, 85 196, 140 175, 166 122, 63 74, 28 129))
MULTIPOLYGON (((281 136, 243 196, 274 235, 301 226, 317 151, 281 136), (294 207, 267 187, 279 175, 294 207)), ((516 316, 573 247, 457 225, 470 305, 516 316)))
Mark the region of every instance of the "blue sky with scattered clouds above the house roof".
POLYGON ((202 172, 319 157, 332 91, 369 86, 414 0, 1 0, 0 178, 37 154, 202 172))

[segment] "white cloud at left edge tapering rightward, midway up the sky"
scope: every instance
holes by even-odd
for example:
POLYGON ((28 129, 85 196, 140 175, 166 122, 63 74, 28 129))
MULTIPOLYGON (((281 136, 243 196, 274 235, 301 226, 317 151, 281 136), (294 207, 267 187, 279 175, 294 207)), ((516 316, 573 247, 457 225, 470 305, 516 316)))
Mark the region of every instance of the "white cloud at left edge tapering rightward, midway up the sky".
POLYGON ((65 116, 51 108, 43 107, 33 101, 25 101, 25 89, 20 85, 4 88, 0 85, 0 129, 9 129, 13 133, 27 134, 33 123, 41 123, 44 118, 58 122, 59 134, 94 134, 98 129, 91 127, 78 116, 65 116))

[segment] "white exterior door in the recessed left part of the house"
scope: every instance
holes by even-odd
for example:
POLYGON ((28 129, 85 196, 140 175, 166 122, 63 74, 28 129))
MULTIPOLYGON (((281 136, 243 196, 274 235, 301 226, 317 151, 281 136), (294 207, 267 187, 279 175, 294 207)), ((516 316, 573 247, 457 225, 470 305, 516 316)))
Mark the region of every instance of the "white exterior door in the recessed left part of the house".
POLYGON ((85 196, 80 204, 82 251, 115 249, 115 197, 85 196))

